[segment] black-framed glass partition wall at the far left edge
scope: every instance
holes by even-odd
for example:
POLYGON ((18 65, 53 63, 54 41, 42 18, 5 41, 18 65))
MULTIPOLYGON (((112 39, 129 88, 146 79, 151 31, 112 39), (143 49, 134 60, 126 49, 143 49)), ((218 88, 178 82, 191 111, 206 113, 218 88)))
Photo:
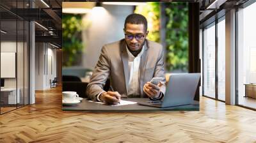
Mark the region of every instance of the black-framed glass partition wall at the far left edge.
POLYGON ((29 22, 15 15, 17 8, 28 5, 8 2, 0 2, 0 114, 29 103, 29 22))

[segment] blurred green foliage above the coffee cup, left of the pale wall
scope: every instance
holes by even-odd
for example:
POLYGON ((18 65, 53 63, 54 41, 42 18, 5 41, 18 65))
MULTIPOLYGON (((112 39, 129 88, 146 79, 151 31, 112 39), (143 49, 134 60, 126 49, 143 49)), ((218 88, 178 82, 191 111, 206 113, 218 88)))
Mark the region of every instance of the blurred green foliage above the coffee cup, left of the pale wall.
POLYGON ((63 13, 63 66, 74 66, 81 62, 81 54, 85 45, 81 38, 81 31, 86 27, 82 22, 81 15, 63 13))

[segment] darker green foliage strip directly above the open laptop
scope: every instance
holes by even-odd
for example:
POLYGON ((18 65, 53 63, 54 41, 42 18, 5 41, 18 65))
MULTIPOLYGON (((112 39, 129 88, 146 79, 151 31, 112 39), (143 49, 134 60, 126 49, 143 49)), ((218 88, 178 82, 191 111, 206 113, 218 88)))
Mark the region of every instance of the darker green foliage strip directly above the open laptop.
POLYGON ((166 3, 166 68, 188 71, 188 3, 166 3))

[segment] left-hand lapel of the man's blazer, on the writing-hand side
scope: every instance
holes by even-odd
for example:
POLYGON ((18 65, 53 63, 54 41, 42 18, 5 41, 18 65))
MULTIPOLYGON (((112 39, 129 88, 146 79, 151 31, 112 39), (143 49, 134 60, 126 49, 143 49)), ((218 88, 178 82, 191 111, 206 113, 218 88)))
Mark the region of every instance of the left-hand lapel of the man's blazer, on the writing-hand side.
POLYGON ((125 78, 125 87, 126 87, 126 95, 128 95, 128 86, 129 86, 129 65, 128 65, 128 53, 125 47, 125 41, 120 45, 122 49, 121 57, 124 67, 124 78, 125 78))

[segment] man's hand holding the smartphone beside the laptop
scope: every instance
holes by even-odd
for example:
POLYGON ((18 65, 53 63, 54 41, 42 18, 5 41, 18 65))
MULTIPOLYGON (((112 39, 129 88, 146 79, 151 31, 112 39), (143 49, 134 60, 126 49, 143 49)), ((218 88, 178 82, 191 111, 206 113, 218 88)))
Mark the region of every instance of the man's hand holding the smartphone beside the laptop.
POLYGON ((163 84, 161 82, 159 82, 159 84, 154 85, 151 82, 147 82, 144 86, 143 86, 143 91, 144 93, 147 94, 148 97, 150 98, 157 98, 160 95, 160 87, 163 86, 163 84))

